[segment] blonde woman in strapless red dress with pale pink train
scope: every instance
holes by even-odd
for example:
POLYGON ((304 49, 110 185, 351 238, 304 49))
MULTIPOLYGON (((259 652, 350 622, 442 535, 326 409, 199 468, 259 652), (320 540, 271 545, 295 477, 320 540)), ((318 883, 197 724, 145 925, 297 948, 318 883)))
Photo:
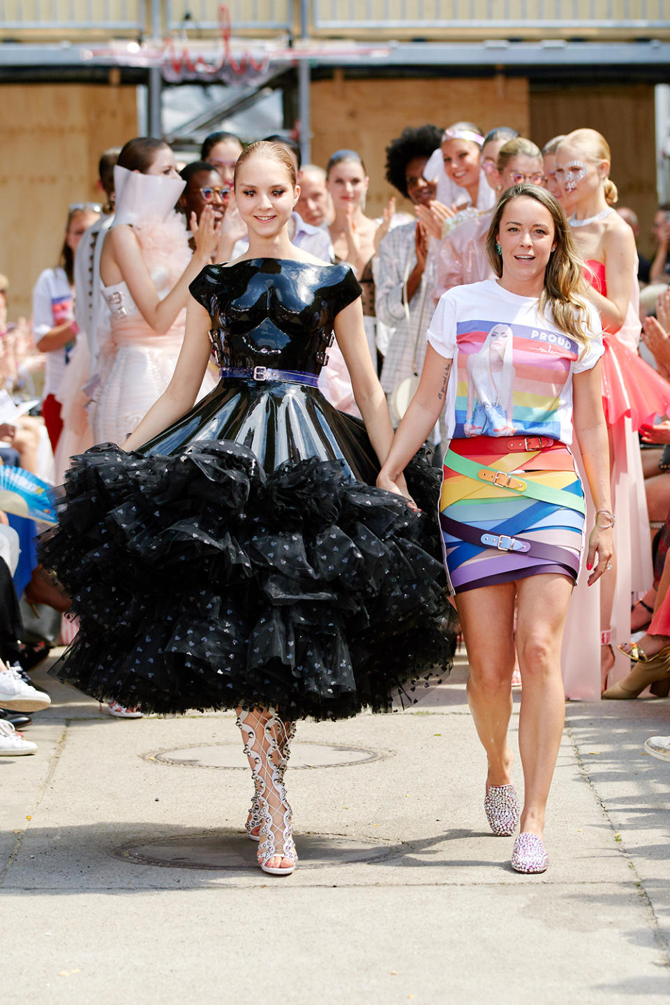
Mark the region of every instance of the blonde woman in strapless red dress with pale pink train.
MULTIPOLYGON (((586 261, 589 295, 603 325, 603 407, 612 496, 615 513, 622 517, 615 531, 615 571, 601 586, 599 682, 605 697, 615 696, 607 684, 616 684, 628 672, 623 654, 615 656, 613 638, 628 635, 632 594, 644 593, 653 578, 637 433, 654 415, 670 408, 670 385, 637 352, 641 332, 637 251, 633 231, 614 208, 618 193, 610 178, 611 166, 610 147, 596 130, 570 133, 555 151, 556 179, 570 200, 569 222, 586 261)), ((580 607, 585 614, 586 606, 580 607)), ((580 639, 579 651, 571 660, 572 672, 585 678, 593 664, 590 639, 594 633, 586 618, 571 630, 571 639, 580 639)))

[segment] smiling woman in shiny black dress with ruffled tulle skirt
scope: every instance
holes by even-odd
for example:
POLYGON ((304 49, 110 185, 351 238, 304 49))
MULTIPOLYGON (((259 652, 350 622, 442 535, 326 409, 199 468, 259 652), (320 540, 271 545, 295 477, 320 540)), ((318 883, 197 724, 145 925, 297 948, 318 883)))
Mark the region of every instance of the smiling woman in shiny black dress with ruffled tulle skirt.
MULTIPOLYGON (((237 709, 266 872, 295 867, 283 774, 296 719, 390 709, 449 662, 427 465, 418 514, 374 487, 393 430, 361 287, 287 236, 299 189, 275 144, 240 156, 249 249, 191 284, 175 375, 123 448, 78 458, 44 564, 80 628, 57 675, 145 711, 237 709), (338 338, 364 422, 317 388, 338 338), (194 407, 214 348, 217 388, 194 407), (433 552, 429 554, 424 545, 433 552)), ((434 519, 434 518, 433 518, 434 519)))

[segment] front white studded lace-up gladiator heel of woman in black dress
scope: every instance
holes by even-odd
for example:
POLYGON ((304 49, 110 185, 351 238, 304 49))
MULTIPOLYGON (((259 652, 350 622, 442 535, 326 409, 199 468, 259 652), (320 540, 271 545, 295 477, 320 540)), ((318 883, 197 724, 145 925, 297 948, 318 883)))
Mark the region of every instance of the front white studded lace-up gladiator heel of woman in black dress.
POLYGON ((254 797, 262 821, 258 864, 270 875, 290 875, 295 869, 297 854, 291 834, 292 813, 283 778, 294 734, 293 724, 284 723, 271 713, 265 720, 256 713, 242 711, 237 725, 245 738, 244 753, 251 765, 254 797), (283 867, 268 865, 273 858, 289 859, 292 864, 283 867))

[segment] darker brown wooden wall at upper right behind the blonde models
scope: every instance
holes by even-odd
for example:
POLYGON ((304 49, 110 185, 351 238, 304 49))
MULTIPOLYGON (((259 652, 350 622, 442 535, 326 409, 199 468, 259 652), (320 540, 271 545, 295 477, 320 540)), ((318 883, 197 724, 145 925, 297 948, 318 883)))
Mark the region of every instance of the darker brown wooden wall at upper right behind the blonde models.
POLYGON ((553 136, 584 127, 598 130, 608 141, 618 205, 635 210, 640 249, 651 253, 657 199, 653 84, 531 84, 530 132, 535 143, 542 146, 553 136))

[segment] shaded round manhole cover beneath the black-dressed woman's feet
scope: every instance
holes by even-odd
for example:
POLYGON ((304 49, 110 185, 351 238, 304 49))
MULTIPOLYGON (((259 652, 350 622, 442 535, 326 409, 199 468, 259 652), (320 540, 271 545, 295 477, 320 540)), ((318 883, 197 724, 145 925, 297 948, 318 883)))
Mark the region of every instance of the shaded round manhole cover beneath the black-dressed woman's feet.
MULTIPOLYGON (((296 834, 299 868, 316 869, 352 862, 373 862, 402 853, 401 845, 340 837, 330 834, 296 834)), ((230 832, 167 837, 134 844, 114 852, 136 865, 161 865, 179 869, 256 869, 258 845, 244 834, 230 832)))

